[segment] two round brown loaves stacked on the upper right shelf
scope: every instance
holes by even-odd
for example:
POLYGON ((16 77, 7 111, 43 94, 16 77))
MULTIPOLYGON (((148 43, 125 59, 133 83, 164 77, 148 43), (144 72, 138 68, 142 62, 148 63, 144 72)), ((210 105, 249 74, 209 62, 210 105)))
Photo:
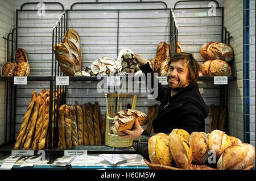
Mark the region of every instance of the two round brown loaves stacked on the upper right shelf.
POLYGON ((225 43, 210 41, 200 48, 205 62, 201 64, 201 76, 231 76, 230 63, 233 60, 233 48, 225 43))

